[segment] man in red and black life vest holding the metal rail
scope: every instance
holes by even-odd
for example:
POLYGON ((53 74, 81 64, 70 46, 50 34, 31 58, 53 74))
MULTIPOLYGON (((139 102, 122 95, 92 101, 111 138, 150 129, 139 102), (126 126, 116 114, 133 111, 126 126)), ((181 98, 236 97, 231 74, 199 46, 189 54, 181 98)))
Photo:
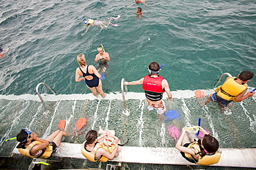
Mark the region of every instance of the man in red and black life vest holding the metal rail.
POLYGON ((141 85, 143 84, 143 89, 145 90, 145 95, 147 98, 147 109, 156 109, 158 116, 163 118, 163 113, 166 111, 165 103, 162 100, 163 92, 166 92, 168 100, 172 101, 172 94, 169 88, 168 82, 160 75, 158 72, 161 70, 156 61, 149 64, 147 70, 150 74, 144 76, 138 81, 124 82, 124 85, 141 85))

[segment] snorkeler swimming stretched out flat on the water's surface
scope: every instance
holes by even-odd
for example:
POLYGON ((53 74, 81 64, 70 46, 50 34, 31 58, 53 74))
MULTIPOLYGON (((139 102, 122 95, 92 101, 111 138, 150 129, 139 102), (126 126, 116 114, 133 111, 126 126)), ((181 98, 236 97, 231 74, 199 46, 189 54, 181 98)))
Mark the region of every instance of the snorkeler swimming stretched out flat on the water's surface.
POLYGON ((91 26, 100 26, 100 28, 102 29, 107 29, 109 24, 113 25, 113 26, 118 26, 118 24, 113 24, 111 23, 112 19, 119 19, 121 16, 118 15, 118 17, 112 17, 109 21, 98 21, 98 20, 93 20, 93 19, 84 19, 84 24, 88 25, 88 27, 86 28, 85 32, 82 34, 82 36, 84 36, 84 34, 86 32, 88 32, 89 28, 91 26))

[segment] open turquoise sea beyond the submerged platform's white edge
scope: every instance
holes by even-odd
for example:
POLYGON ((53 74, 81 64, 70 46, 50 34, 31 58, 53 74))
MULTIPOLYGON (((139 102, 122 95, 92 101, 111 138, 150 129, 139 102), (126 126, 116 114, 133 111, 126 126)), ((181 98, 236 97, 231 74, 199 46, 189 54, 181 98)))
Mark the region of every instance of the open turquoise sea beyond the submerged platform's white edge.
MULTIPOLYGON (((255 72, 255 1, 147 1, 142 19, 130 1, 1 1, 0 93, 35 94, 44 82, 57 94, 89 93, 75 83, 77 54, 93 64, 102 43, 109 54, 105 92, 119 92, 121 78, 137 80, 152 61, 165 63, 161 71, 176 89, 212 89, 223 72, 237 76, 255 72), (84 18, 107 20, 118 27, 90 28, 84 18)), ((254 78, 249 85, 256 85, 254 78)), ((141 87, 131 87, 141 92, 141 87)))

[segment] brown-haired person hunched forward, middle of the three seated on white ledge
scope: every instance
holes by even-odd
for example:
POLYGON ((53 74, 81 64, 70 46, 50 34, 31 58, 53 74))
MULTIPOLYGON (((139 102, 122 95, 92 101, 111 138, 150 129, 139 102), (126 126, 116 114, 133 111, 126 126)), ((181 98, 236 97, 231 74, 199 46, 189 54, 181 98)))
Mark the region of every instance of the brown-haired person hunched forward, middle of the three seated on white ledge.
POLYGON ((82 155, 91 162, 107 162, 107 160, 118 157, 120 140, 115 136, 115 131, 104 131, 100 127, 99 134, 102 136, 98 137, 95 130, 88 131, 85 136, 86 141, 82 144, 82 155), (105 140, 111 141, 111 145, 107 146, 104 143, 105 140))

